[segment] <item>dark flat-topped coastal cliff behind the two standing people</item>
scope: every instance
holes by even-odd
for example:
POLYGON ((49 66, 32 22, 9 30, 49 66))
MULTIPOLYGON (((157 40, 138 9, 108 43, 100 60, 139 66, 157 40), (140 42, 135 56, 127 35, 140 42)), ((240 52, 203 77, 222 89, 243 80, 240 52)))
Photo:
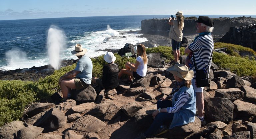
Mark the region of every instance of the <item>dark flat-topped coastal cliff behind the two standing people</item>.
MULTIPOLYGON (((194 35, 196 33, 196 19, 185 19, 183 35, 194 35)), ((229 31, 230 27, 245 26, 247 24, 256 23, 255 18, 214 18, 213 35, 222 35, 229 31)), ((162 35, 168 37, 170 25, 167 24, 168 19, 145 19, 141 21, 141 31, 144 34, 162 35)))

